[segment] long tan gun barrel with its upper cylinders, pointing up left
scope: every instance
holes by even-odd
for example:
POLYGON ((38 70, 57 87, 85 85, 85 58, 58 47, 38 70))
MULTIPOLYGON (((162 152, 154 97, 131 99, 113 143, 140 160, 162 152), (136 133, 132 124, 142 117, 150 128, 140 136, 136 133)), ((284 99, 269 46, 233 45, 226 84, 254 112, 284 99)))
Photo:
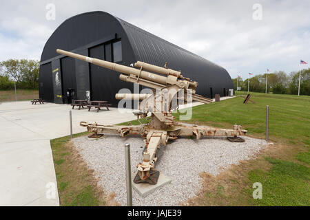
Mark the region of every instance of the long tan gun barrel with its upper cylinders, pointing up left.
POLYGON ((65 56, 70 56, 72 58, 79 59, 81 61, 86 61, 88 63, 98 65, 100 67, 112 69, 116 72, 121 72, 122 74, 119 76, 119 78, 126 82, 138 83, 140 85, 144 85, 152 89, 163 89, 164 87, 167 87, 168 85, 178 85, 178 87, 183 88, 183 89, 192 89, 193 100, 203 102, 203 103, 212 102, 212 100, 210 100, 209 98, 205 98, 203 96, 199 96, 195 94, 196 87, 198 86, 197 82, 189 80, 189 78, 183 78, 180 72, 173 70, 173 69, 158 67, 158 66, 151 65, 148 63, 143 63, 141 61, 137 61, 134 64, 135 67, 140 68, 140 69, 136 69, 134 67, 127 67, 125 65, 119 65, 117 63, 111 63, 111 62, 103 61, 97 58, 91 58, 88 56, 75 54, 75 53, 68 52, 65 50, 57 49, 56 52, 59 54, 63 54, 65 56), (158 74, 164 74, 166 76, 153 74, 152 72, 147 72, 143 69, 149 69, 149 71, 156 72, 158 74), (126 74, 127 76, 123 74, 126 74))

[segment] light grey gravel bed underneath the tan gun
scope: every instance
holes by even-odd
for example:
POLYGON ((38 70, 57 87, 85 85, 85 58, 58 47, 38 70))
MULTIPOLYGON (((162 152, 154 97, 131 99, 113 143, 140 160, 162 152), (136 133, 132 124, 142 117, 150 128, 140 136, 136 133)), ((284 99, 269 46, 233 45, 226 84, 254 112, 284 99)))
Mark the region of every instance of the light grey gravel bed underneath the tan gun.
MULTIPOLYGON (((172 178, 172 183, 159 188, 143 198, 132 190, 134 206, 178 206, 194 197, 201 189, 199 173, 218 175, 223 168, 238 164, 240 160, 251 159, 260 149, 266 147, 265 140, 244 137, 245 142, 229 142, 226 138, 192 140, 179 138, 172 144, 161 147, 161 157, 156 170, 172 178)), ((136 175, 136 164, 141 162, 144 148, 141 137, 119 137, 106 135, 99 140, 86 136, 73 140, 87 165, 94 169, 101 179, 105 193, 116 194, 115 200, 122 206, 127 203, 125 183, 124 144, 130 143, 132 172, 136 175), (141 148, 143 146, 143 148, 141 148)))

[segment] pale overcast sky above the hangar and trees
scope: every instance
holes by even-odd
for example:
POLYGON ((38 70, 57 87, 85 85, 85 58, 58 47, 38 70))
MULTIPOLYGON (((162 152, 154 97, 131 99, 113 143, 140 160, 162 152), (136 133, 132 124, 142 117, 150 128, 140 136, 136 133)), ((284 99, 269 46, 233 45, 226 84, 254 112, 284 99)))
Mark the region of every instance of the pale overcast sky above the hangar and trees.
POLYGON ((310 1, 1 1, 0 61, 40 59, 65 19, 101 10, 221 65, 236 78, 310 62, 310 1), (46 19, 49 3, 55 19, 46 19), (261 5, 261 13, 260 6, 261 5))

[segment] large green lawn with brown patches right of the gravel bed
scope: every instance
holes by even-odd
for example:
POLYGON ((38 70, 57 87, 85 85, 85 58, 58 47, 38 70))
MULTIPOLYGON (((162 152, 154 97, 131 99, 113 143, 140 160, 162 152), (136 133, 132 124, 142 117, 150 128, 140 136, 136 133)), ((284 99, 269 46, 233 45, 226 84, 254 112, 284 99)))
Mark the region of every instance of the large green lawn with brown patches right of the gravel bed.
MULTIPOLYGON (((246 166, 240 166, 237 171, 233 170, 234 175, 214 179, 213 183, 207 177, 205 182, 214 184, 214 187, 205 189, 204 195, 196 198, 191 205, 310 205, 310 97, 251 95, 255 103, 243 104, 244 99, 237 97, 194 107, 192 119, 187 122, 227 129, 235 123, 241 124, 250 136, 265 139, 266 106, 269 105, 269 141, 274 142, 275 147, 270 146, 270 152, 263 153, 246 166), (262 183, 262 199, 252 197, 252 185, 257 181, 262 183)), ((178 120, 180 113, 174 115, 178 120)), ((132 124, 138 123, 132 121, 132 124)))

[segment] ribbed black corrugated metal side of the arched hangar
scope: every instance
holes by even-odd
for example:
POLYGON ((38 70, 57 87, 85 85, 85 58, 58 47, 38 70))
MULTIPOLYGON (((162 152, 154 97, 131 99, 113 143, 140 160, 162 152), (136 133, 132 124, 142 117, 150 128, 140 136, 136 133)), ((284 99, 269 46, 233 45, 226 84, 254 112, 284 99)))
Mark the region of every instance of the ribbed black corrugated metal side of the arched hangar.
POLYGON ((117 17, 116 19, 121 23, 127 34, 136 60, 158 66, 163 66, 167 62, 169 68, 181 70, 184 76, 196 80, 200 84, 197 92, 205 96, 209 95, 209 88, 206 89, 205 87, 212 87, 214 94, 223 94, 223 88, 233 88, 231 77, 223 67, 146 32, 127 21, 117 17))

